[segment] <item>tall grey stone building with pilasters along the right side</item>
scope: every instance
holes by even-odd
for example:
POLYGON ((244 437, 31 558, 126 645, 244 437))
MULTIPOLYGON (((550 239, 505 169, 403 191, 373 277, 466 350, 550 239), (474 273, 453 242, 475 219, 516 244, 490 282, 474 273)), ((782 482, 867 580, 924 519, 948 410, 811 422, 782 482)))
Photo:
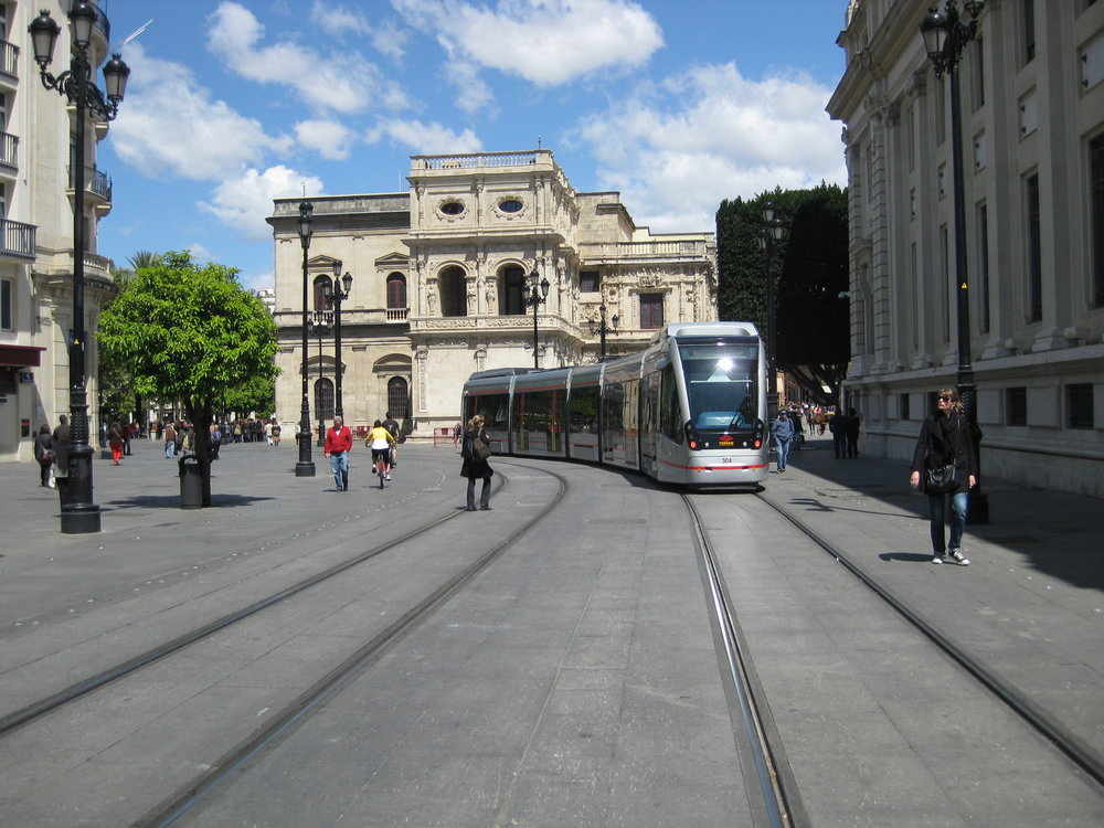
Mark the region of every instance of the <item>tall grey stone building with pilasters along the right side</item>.
MULTIPOLYGON (((852 0, 828 104, 849 169, 847 393, 864 450, 901 459, 933 392, 955 384, 960 339, 951 99, 920 33, 928 6, 852 0)), ((1104 497, 1104 2, 957 7, 964 20, 981 7, 958 77, 983 473, 1104 497)))

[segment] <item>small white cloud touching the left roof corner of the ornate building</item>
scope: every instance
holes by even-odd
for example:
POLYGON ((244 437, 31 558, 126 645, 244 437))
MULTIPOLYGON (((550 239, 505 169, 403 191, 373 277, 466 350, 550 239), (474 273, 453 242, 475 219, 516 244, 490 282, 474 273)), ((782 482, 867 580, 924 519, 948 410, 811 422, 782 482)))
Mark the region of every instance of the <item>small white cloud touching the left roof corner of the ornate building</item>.
POLYGON ((273 200, 322 192, 322 182, 304 176, 283 164, 269 167, 264 172, 244 170, 236 178, 227 179, 213 191, 213 203, 200 202, 199 208, 214 213, 219 220, 250 242, 272 238, 272 227, 265 219, 273 213, 273 200))

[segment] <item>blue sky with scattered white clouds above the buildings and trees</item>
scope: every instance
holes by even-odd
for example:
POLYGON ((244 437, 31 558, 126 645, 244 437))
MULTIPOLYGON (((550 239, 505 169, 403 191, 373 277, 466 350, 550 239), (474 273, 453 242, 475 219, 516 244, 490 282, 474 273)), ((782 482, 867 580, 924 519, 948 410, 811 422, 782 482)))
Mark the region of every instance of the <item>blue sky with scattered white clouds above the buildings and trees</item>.
POLYGON ((722 199, 846 184, 825 106, 847 4, 99 0, 116 46, 152 22, 121 45, 98 252, 190 250, 270 288, 274 199, 405 192, 412 155, 539 146, 638 226, 714 231, 722 199))

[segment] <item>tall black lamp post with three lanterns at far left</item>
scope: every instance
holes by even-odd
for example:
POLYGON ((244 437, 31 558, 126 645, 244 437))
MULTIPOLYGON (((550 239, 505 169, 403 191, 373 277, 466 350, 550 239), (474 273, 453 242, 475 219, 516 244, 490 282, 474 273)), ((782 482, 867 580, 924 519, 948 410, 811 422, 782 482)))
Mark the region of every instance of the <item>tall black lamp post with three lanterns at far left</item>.
POLYGON ((42 85, 56 89, 76 107, 75 146, 73 148, 73 331, 68 340, 70 363, 70 453, 68 481, 59 487, 61 500, 61 530, 65 534, 85 534, 99 531, 99 506, 93 502, 92 457, 88 443, 88 393, 85 388, 85 330, 84 330, 84 144, 86 114, 114 120, 126 92, 130 67, 118 54, 113 54, 104 65, 104 86, 95 84, 88 44, 96 24, 98 9, 88 0, 75 0, 70 8, 72 49, 70 67, 54 77, 46 71, 53 62, 54 45, 61 26, 43 11, 28 26, 39 64, 42 85))

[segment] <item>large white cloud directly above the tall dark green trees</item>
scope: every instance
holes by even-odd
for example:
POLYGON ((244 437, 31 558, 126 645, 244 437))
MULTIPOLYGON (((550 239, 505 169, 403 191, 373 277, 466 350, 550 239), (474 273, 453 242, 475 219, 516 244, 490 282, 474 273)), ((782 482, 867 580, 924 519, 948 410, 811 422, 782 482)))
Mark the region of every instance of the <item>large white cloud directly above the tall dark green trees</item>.
POLYGON ((569 134, 654 231, 711 230, 722 199, 775 187, 846 184, 831 89, 803 75, 753 82, 733 64, 641 85, 569 134))

